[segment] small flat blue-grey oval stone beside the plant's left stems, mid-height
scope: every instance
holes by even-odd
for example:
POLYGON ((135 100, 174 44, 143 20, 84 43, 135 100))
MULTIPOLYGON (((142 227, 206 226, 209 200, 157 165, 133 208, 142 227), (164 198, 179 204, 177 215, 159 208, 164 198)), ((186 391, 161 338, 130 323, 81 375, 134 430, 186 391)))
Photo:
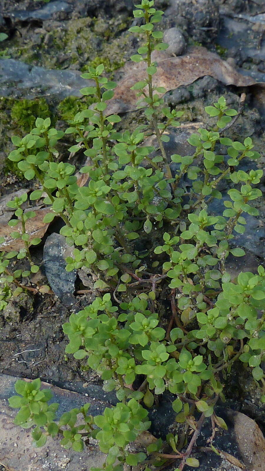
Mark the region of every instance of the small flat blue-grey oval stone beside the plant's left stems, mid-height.
POLYGON ((66 271, 65 259, 71 254, 71 248, 66 244, 63 235, 54 232, 47 237, 43 250, 45 273, 52 291, 60 299, 65 299, 66 305, 68 300, 71 300, 70 304, 72 302, 72 297, 69 294, 75 292, 76 270, 66 271))

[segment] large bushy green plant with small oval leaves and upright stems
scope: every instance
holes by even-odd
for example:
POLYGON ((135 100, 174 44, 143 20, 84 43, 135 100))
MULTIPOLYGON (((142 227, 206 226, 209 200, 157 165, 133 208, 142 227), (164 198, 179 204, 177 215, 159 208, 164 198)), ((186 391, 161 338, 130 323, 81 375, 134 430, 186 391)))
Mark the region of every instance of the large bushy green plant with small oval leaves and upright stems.
MULTIPOLYGON (((138 91, 147 124, 132 133, 117 132, 119 115, 104 114, 116 83, 102 75, 103 65, 89 67, 82 75, 94 81, 94 86, 81 90, 95 100, 93 109, 75 114, 65 132, 76 140, 69 151, 81 147, 91 159, 91 165, 82 169, 89 175, 88 186, 77 185, 74 165, 56 162, 55 146, 64 133, 51 128, 49 118, 37 118, 36 128, 25 138, 13 137, 17 149, 9 155, 26 179, 37 178, 42 185, 31 193, 30 200, 47 193, 44 202, 53 212, 44 221, 50 222, 56 214, 65 221, 60 233, 74 247, 66 269, 86 268, 97 278, 95 288, 108 291, 72 314, 63 330, 69 338, 66 354, 95 370, 104 390, 116 390, 119 401, 95 417, 89 415, 89 404, 73 409, 57 424, 53 415, 56 407, 47 405, 47 391, 40 391, 39 380, 34 380, 17 382, 16 391, 22 398, 10 398, 10 406, 20 407, 17 424, 34 426, 37 446, 43 445, 49 434, 62 435, 62 445, 76 451, 83 449, 84 439, 98 439, 100 449, 108 455, 102 468, 107 471, 121 470, 123 463, 163 466, 170 456, 180 459, 180 471, 185 464, 198 467, 198 460, 190 453, 205 417, 227 428, 214 407, 219 398, 224 400, 220 374, 224 377, 237 360, 251 368, 265 402, 260 367, 265 356, 265 270, 259 266, 257 274, 240 273, 231 280, 225 264, 230 252, 245 254, 229 243, 234 231, 244 232, 243 212, 258 214, 249 202, 261 196, 253 185, 260 181, 262 171, 247 173, 235 168, 243 158, 257 159, 259 154, 252 150, 251 138, 242 144, 222 137, 237 112, 221 97, 214 106, 206 107, 206 113, 216 121, 212 128, 200 128, 188 139, 194 154, 173 154, 168 162, 165 131, 170 125, 179 125, 181 113, 165 107, 161 96, 166 90, 153 86, 157 67, 151 52, 167 47, 157 42, 163 34, 154 30, 154 25, 163 12, 153 4, 142 0, 136 5, 133 14, 143 18, 144 24, 130 28, 145 36, 145 44, 132 60, 146 63, 147 77, 132 88, 138 91), (144 143, 151 132, 161 152, 156 157, 151 156, 154 147, 144 143), (220 146, 227 148, 227 163, 225 152, 217 154, 220 146), (179 164, 178 170, 172 170, 173 163, 179 164), (188 193, 181 185, 184 176, 192 181, 188 193), (223 216, 211 216, 207 206, 213 198, 222 197, 218 190, 222 179, 237 187, 228 191, 231 200, 224 201, 223 216), (161 234, 160 244, 154 242, 147 253, 141 253, 135 241, 149 235, 152 228, 161 234), (172 308, 167 331, 159 325, 157 312, 161 284, 172 308), (174 322, 176 327, 172 328, 174 322), (139 375, 143 375, 143 382, 136 389, 139 375), (183 451, 183 440, 181 445, 177 436, 168 434, 174 455, 164 453, 161 440, 147 446, 145 453, 130 453, 127 445, 150 425, 141 401, 151 407, 165 390, 175 395, 176 422, 190 424, 190 416, 200 413, 188 448, 183 451), (78 414, 83 414, 83 424, 77 426, 78 414)), ((215 429, 212 440, 214 434, 215 429)))

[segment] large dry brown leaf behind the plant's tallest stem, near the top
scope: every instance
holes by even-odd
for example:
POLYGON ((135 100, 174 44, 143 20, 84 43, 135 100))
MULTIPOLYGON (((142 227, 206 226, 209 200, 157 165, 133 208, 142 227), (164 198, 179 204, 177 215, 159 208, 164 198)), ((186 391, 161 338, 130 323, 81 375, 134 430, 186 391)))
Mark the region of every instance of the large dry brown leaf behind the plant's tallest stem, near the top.
MULTIPOLYGON (((157 51, 154 59, 157 61, 157 73, 153 75, 153 85, 164 87, 166 91, 189 85, 204 75, 210 75, 225 85, 258 85, 265 89, 265 83, 257 84, 251 77, 241 75, 217 54, 203 47, 191 47, 185 55, 179 57, 157 51)), ((145 68, 146 64, 143 62, 124 65, 121 69, 121 72, 124 71, 124 78, 114 90, 114 97, 109 100, 105 114, 125 113, 137 108, 137 90, 131 90, 131 87, 135 82, 146 78, 145 68)))

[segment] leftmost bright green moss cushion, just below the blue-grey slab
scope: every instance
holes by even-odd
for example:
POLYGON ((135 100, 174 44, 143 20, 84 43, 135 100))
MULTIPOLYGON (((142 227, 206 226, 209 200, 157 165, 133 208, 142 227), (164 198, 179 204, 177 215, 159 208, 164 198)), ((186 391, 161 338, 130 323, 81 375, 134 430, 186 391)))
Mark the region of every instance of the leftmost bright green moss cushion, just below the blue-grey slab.
POLYGON ((12 121, 26 132, 34 127, 36 118, 45 119, 47 116, 50 116, 50 110, 45 98, 19 100, 11 108, 12 121))

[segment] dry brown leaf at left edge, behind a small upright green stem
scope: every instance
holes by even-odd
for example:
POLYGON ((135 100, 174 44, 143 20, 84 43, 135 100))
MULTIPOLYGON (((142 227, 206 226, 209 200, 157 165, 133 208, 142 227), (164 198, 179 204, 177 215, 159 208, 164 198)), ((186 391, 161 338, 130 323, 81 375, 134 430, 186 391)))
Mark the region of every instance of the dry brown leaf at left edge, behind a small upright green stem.
MULTIPOLYGON (((43 223, 43 218, 45 214, 50 212, 50 208, 42 208, 35 211, 36 216, 34 218, 28 219, 25 223, 26 233, 30 235, 30 241, 35 237, 43 237, 47 231, 50 223, 43 223)), ((3 224, 0 226, 0 237, 5 237, 5 242, 0 244, 0 251, 10 252, 11 250, 19 251, 24 247, 24 242, 21 239, 13 239, 11 233, 17 231, 22 232, 21 222, 17 226, 10 227, 8 224, 3 224)))

